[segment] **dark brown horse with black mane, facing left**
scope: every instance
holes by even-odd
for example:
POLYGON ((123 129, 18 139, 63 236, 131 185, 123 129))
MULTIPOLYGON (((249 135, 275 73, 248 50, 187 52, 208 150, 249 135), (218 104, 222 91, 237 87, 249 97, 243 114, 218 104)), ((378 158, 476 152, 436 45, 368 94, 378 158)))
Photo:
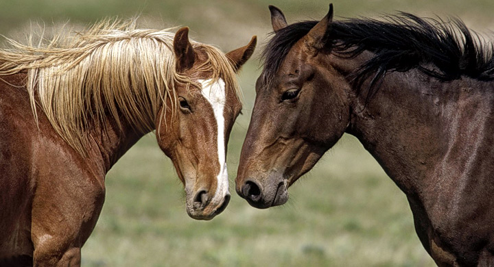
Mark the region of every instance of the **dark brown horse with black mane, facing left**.
POLYGON ((236 190, 282 205, 344 132, 405 192, 439 266, 494 266, 493 47, 460 20, 402 13, 384 21, 287 25, 257 79, 236 190))

